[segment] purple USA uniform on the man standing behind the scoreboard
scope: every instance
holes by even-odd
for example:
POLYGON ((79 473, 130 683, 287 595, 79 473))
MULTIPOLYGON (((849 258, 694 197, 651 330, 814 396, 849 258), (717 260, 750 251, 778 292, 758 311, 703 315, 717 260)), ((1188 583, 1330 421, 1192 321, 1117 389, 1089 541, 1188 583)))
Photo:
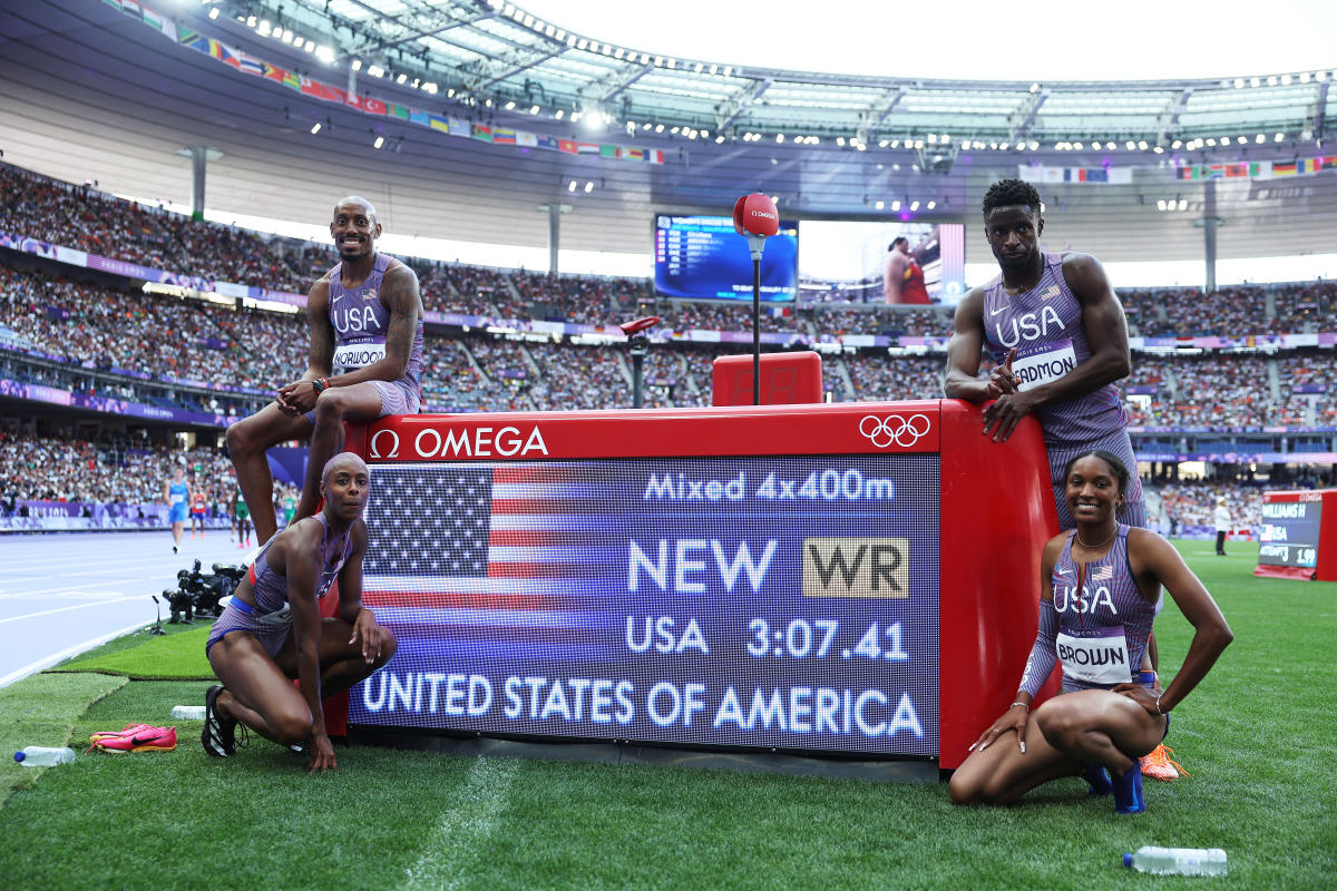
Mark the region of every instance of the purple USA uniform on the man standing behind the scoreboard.
MULTIPOLYGON (((1007 359, 1008 350, 1016 347, 1012 371, 1021 378, 1019 389, 1023 391, 1056 381, 1091 358, 1082 325, 1082 302, 1063 278, 1062 254, 1044 255, 1044 273, 1029 291, 1009 295, 1003 290, 1001 277, 985 286, 984 339, 999 365, 1007 359)), ((1123 461, 1128 472, 1128 492, 1118 510, 1119 521, 1146 526, 1138 460, 1132 454, 1128 415, 1123 410, 1119 389, 1107 383, 1076 399, 1046 405, 1036 414, 1050 454, 1059 528, 1072 529, 1076 525, 1064 497, 1063 468, 1074 456, 1090 449, 1106 449, 1123 461)))

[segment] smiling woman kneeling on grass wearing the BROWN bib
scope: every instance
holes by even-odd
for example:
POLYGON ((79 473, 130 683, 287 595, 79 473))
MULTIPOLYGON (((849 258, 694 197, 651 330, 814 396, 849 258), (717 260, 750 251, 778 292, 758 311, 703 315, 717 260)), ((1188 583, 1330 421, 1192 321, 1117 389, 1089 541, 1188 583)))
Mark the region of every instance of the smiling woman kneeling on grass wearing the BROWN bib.
POLYGON ((1138 757, 1165 737, 1170 709, 1233 635, 1170 542, 1115 520, 1128 484, 1116 456, 1079 454, 1064 477, 1078 525, 1044 545, 1040 631, 1016 701, 971 745, 949 791, 957 804, 1011 804, 1042 783, 1082 775, 1094 795, 1114 792, 1116 814, 1139 814, 1147 806, 1138 757), (1130 667, 1142 663, 1162 585, 1194 635, 1183 667, 1158 695, 1154 676, 1135 684, 1130 667), (1063 692, 1032 713, 1055 661, 1063 663, 1063 692))

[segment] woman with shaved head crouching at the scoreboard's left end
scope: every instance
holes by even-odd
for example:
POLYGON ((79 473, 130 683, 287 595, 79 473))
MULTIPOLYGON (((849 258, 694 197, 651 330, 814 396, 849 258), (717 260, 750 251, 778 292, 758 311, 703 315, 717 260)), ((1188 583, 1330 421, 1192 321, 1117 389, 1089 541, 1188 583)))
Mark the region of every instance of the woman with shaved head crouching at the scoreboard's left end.
POLYGON ((366 465, 345 452, 321 474, 325 509, 287 526, 255 557, 205 652, 222 684, 205 697, 205 751, 237 749, 237 723, 285 745, 305 745, 309 771, 337 768, 322 696, 369 677, 394 655, 394 636, 362 608, 366 465), (340 617, 317 601, 338 578, 340 617), (301 691, 293 687, 301 681, 301 691))

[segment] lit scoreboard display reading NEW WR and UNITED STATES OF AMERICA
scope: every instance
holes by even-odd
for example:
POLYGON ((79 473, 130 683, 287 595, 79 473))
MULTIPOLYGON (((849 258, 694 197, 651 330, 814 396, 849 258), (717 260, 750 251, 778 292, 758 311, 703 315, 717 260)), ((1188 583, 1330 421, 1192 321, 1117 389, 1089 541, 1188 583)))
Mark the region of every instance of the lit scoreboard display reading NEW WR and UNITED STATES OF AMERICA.
POLYGON ((939 751, 936 453, 373 464, 354 724, 939 751))

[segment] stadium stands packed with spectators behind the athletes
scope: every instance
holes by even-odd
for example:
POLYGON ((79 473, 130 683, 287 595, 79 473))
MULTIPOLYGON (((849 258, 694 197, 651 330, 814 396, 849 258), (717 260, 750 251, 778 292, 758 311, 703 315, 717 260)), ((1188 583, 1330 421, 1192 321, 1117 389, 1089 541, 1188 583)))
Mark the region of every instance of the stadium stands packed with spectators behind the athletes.
MULTIPOLYGON (((303 293, 334 263, 329 247, 193 220, 162 208, 0 164, 0 231, 150 267, 271 291, 303 293)), ((644 365, 647 407, 710 403, 710 366, 737 351, 675 342, 673 333, 749 331, 734 303, 658 299, 647 281, 547 275, 406 258, 429 311, 499 321, 488 329, 436 323, 424 350, 429 411, 624 409, 631 367, 615 338, 563 338, 531 322, 610 325, 663 318, 670 337, 644 365), (580 341, 580 342, 578 342, 580 341)), ((1130 331, 1142 338, 1314 334, 1337 330, 1337 286, 1120 291, 1130 331)), ((449 318, 449 317, 447 317, 449 318)), ((933 399, 943 355, 840 346, 849 334, 940 338, 943 309, 800 303, 767 313, 762 329, 829 347, 824 383, 832 401, 933 399)), ((1182 349, 1139 353, 1122 386, 1135 442, 1155 453, 1262 454, 1330 452, 1337 426, 1337 358, 1317 347, 1182 349), (1281 442, 1285 439, 1285 442, 1281 442), (1326 445, 1325 445, 1326 443, 1326 445)), ((263 405, 305 365, 306 323, 297 313, 245 309, 147 293, 139 282, 0 250, 0 378, 136 405, 227 418, 263 405)), ((215 445, 180 452, 166 426, 130 418, 78 425, 37 421, 9 409, 0 434, 4 509, 29 500, 155 501, 172 462, 199 465, 225 497, 227 460, 215 445)), ((203 442, 221 437, 201 431, 203 442)), ((1152 462, 1154 516, 1177 530, 1210 525, 1218 496, 1241 525, 1257 525, 1259 492, 1329 481, 1304 465, 1238 460, 1214 480, 1175 478, 1152 462), (1255 480, 1255 477, 1259 477, 1255 480), (1266 484, 1261 478, 1266 478, 1266 484)), ((1330 473, 1330 472, 1329 472, 1330 473)))

